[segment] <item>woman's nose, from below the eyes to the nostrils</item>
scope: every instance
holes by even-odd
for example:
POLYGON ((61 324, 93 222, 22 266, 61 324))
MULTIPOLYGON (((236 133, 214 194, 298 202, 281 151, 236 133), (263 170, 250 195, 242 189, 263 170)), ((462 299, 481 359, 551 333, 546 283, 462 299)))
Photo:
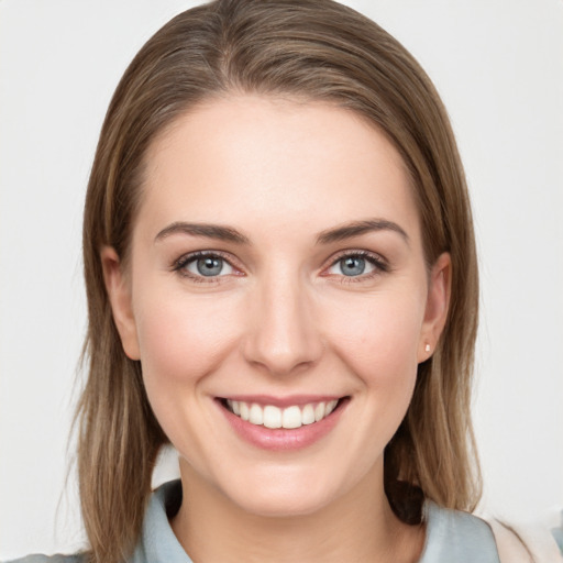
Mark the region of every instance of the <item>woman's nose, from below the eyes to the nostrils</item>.
POLYGON ((243 345, 246 361, 272 375, 287 375, 318 363, 323 342, 313 303, 297 279, 264 280, 249 297, 243 345))

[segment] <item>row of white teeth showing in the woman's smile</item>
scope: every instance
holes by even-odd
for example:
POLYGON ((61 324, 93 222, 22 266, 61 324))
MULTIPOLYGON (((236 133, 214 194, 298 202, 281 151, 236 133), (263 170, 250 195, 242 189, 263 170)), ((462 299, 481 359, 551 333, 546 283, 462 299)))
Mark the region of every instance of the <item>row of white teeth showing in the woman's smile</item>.
POLYGON ((269 429, 295 429, 325 419, 345 398, 309 402, 302 406, 292 405, 286 408, 231 399, 221 399, 221 404, 227 410, 251 424, 269 429))

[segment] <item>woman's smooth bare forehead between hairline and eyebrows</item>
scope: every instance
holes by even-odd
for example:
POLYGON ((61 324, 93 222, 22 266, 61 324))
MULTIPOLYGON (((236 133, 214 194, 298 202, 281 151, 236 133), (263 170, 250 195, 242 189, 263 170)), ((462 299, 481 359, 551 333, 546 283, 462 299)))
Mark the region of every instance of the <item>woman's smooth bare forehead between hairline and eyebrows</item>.
POLYGON ((322 230, 376 216, 418 225, 406 167, 383 133, 329 103, 240 96, 186 112, 154 141, 139 221, 322 230))

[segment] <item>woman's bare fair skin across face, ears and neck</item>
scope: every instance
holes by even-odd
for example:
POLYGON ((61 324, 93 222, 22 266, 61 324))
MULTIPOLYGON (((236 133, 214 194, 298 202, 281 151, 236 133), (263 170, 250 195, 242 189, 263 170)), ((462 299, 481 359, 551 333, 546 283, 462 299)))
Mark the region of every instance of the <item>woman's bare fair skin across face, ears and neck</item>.
POLYGON ((427 269, 397 151, 346 110, 232 96, 179 118, 146 163, 128 271, 113 249, 101 257, 125 353, 180 455, 180 543, 198 563, 417 561, 424 531, 391 512, 383 451, 443 329, 450 258, 427 269), (399 229, 318 242, 372 219, 399 229), (179 221, 247 242, 158 236, 179 221), (197 251, 225 257, 221 275, 177 268, 197 251), (346 276, 342 252, 384 267, 346 276), (242 394, 350 401, 327 435, 279 452, 227 422, 216 398, 242 394))

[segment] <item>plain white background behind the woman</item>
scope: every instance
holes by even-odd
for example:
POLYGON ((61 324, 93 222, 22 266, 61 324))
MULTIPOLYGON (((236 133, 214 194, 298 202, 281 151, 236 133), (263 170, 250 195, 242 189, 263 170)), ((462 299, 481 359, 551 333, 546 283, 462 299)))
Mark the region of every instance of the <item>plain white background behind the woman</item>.
MULTIPOLYGON (((350 1, 450 111, 482 268, 475 422, 485 506, 563 507, 563 3, 350 1)), ((110 96, 192 2, 0 0, 0 558, 76 549, 67 435, 85 330, 80 223, 110 96)), ((71 449, 70 449, 71 451, 71 449)))

